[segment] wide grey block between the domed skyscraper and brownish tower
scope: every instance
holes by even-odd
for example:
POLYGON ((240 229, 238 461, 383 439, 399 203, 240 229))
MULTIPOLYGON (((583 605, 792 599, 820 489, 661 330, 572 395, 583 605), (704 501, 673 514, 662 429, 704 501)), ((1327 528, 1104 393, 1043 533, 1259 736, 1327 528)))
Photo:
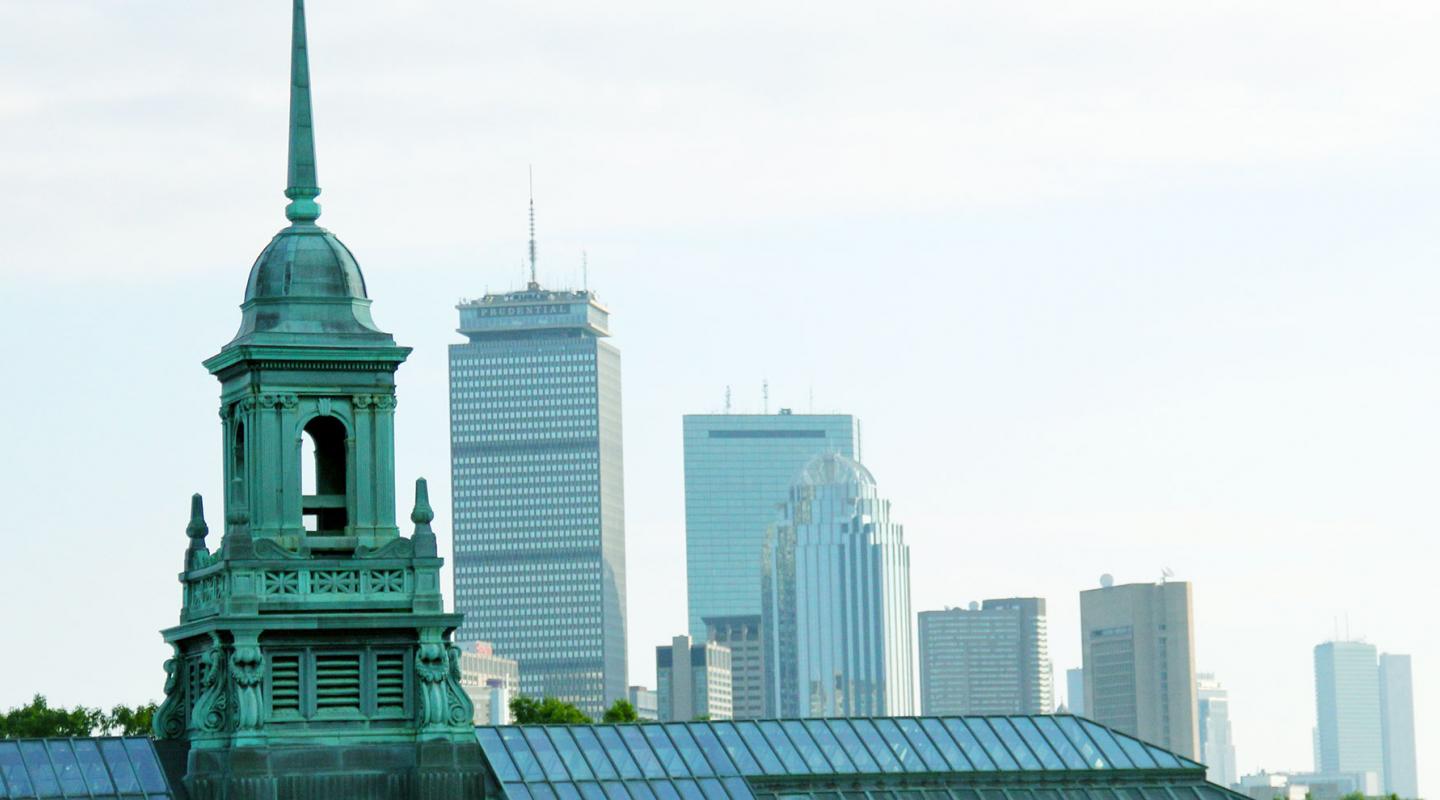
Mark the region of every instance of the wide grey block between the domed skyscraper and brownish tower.
POLYGON ((920 612, 920 714, 1051 714, 1045 601, 920 612))

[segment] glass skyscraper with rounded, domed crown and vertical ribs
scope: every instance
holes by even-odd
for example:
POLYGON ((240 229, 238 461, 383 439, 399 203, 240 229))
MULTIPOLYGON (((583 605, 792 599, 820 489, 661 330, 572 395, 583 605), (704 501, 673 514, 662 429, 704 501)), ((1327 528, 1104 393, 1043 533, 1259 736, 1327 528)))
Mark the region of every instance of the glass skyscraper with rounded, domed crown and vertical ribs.
POLYGON ((812 459, 766 534, 766 717, 901 717, 914 706, 910 551, 858 462, 812 459))

